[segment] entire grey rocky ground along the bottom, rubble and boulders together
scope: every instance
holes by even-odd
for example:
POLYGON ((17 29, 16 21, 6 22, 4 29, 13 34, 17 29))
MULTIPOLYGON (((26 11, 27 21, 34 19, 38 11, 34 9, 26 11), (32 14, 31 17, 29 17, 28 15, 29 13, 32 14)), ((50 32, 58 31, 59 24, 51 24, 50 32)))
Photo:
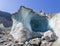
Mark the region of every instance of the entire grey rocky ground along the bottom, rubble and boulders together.
POLYGON ((49 30, 41 37, 32 38, 24 44, 19 44, 19 41, 15 41, 14 37, 10 35, 10 31, 5 32, 0 30, 0 46, 51 46, 55 40, 56 35, 49 30))

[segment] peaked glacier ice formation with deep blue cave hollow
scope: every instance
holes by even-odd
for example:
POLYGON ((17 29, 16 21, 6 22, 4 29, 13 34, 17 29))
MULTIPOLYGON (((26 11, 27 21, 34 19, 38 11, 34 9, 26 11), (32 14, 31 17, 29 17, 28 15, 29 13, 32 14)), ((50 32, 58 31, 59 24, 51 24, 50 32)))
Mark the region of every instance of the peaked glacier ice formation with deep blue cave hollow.
POLYGON ((19 43, 41 37, 42 32, 50 30, 47 18, 45 14, 36 13, 32 9, 21 6, 18 12, 12 15, 13 25, 10 34, 19 43))

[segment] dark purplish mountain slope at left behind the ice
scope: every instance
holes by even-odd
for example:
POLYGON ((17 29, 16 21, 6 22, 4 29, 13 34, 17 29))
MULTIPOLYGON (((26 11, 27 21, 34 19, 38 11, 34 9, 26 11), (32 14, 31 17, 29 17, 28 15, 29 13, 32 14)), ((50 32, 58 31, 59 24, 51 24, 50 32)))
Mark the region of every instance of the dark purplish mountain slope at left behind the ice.
POLYGON ((12 26, 11 14, 7 12, 0 11, 0 23, 3 23, 5 27, 12 26))

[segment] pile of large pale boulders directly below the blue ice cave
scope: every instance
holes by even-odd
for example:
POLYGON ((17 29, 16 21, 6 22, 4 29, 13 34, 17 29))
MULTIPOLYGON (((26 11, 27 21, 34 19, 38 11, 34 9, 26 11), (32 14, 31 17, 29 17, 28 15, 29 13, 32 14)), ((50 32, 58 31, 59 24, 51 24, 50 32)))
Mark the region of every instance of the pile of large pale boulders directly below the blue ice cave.
POLYGON ((46 31, 41 38, 31 39, 27 45, 29 46, 52 46, 56 40, 56 35, 49 31, 46 31))

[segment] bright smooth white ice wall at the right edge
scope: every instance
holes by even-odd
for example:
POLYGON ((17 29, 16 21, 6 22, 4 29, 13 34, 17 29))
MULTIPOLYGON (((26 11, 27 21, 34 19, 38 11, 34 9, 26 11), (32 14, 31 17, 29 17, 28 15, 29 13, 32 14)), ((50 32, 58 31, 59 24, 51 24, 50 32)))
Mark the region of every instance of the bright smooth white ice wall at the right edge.
POLYGON ((60 46, 60 13, 54 14, 54 16, 49 20, 49 25, 58 37, 52 46, 60 46))

